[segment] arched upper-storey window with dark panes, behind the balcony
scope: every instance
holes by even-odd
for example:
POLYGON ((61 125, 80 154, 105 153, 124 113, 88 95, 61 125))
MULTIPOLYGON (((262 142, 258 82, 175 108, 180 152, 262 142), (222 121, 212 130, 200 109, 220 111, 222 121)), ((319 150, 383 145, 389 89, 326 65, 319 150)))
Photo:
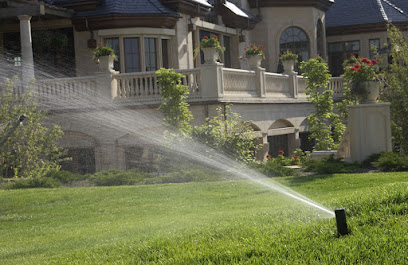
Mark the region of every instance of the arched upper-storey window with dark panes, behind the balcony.
POLYGON ((298 63, 309 60, 309 38, 306 32, 299 27, 289 27, 285 29, 279 40, 279 48, 281 53, 289 50, 299 55, 298 63))

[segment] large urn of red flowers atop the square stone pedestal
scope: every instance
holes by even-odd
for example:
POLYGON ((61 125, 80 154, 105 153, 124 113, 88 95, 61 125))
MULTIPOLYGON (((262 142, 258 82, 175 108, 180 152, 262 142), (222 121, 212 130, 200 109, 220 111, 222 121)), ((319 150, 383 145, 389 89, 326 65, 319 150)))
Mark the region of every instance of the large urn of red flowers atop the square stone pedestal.
POLYGON ((354 63, 354 66, 344 69, 344 78, 350 84, 351 93, 360 103, 375 103, 379 95, 377 60, 354 57, 354 63))

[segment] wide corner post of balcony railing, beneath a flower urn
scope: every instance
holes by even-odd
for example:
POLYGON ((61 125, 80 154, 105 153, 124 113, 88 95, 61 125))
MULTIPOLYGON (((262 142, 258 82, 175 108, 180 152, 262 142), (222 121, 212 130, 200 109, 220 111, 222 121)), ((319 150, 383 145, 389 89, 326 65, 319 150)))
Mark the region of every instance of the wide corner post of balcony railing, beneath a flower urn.
POLYGON ((203 64, 200 67, 201 95, 205 99, 224 96, 223 64, 203 64))

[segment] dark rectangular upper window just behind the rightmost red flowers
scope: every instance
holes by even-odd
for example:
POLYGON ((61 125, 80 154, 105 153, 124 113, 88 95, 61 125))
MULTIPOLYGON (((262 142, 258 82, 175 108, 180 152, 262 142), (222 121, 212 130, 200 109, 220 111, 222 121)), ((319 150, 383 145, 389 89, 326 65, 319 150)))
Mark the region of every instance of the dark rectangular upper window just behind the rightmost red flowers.
POLYGON ((329 43, 329 68, 333 76, 343 74, 343 62, 351 54, 358 57, 360 41, 346 41, 329 43))

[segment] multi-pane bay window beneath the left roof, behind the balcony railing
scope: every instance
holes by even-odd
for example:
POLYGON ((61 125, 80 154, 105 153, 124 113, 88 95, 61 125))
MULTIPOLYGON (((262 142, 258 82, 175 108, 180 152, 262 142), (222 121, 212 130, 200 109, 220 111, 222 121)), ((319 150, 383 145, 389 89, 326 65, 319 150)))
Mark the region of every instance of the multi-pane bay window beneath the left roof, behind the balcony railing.
POLYGON ((108 37, 104 42, 118 57, 114 69, 125 73, 156 71, 169 68, 168 39, 160 37, 108 37))

